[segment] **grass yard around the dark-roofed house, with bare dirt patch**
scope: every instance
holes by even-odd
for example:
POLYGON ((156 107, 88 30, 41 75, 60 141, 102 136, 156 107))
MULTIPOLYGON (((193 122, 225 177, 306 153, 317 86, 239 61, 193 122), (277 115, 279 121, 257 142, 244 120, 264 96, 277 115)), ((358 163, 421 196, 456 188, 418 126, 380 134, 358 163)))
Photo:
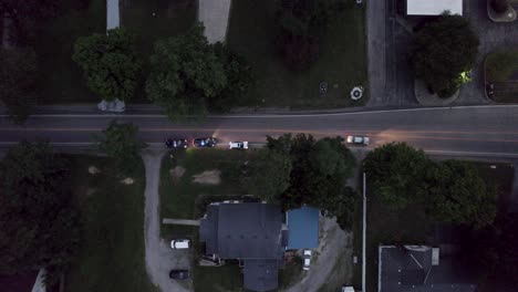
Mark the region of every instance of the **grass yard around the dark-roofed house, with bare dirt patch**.
MULTIPOLYGON (((187 149, 172 152, 165 156, 160 169, 160 218, 199 219, 204 216, 205 204, 214 200, 240 199, 244 194, 238 176, 240 167, 253 152, 237 152, 224 149, 187 149), (170 157, 173 155, 173 158, 170 157), (220 181, 214 176, 201 174, 219 170, 220 181), (195 182, 194 179, 205 182, 195 182), (203 180, 199 180, 199 179, 203 180)), ((184 226, 162 226, 163 238, 188 237, 195 241, 198 228, 184 226)), ((195 242, 196 253, 199 244, 195 242)), ((195 291, 242 291, 242 272, 231 264, 222 267, 199 267, 194 264, 195 291)), ((280 270, 279 284, 288 286, 297 281, 301 271, 301 261, 296 258, 287 269, 280 270)))

